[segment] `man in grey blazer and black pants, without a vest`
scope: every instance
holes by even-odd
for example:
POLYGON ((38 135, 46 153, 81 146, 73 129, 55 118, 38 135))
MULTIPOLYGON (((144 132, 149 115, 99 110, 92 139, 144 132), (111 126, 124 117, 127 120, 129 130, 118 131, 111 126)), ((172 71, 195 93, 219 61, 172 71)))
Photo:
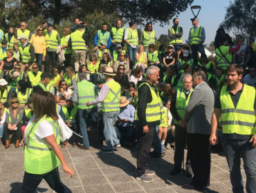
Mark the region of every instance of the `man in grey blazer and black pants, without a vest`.
POLYGON ((203 190, 210 185, 210 129, 214 108, 214 95, 206 83, 203 71, 193 74, 194 90, 185 108, 183 121, 187 125, 188 155, 194 173, 192 182, 182 187, 188 190, 203 190))

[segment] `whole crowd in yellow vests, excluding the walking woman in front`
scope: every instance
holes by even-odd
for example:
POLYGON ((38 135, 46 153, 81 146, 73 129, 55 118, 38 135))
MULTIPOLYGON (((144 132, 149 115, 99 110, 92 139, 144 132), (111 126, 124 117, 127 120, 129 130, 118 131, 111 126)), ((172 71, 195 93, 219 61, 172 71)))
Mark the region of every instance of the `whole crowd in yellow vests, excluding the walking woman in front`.
MULTIPOLYGON (((6 34, 0 30, 0 143, 10 148, 12 134, 15 148, 22 145, 21 140, 33 131, 27 127, 31 129, 28 133, 26 126, 37 116, 30 97, 48 92, 55 98, 54 108, 60 118, 76 133, 62 142, 62 148, 71 144, 89 150, 88 132, 98 128, 99 144, 105 141, 107 145, 103 153, 113 154, 121 146, 138 148, 137 179, 145 182, 153 181, 150 176, 155 174, 147 169, 149 154, 161 158, 166 148, 173 148, 170 174, 176 175, 182 172, 184 149, 188 148, 185 166, 193 180, 183 188, 202 190, 210 185, 211 144, 214 152, 226 154, 233 192, 244 190, 238 169, 240 156, 248 180, 246 190, 253 192, 253 51, 240 34, 232 42, 219 28, 214 40, 216 57, 208 58, 203 48, 205 29, 197 18, 192 19, 192 26, 188 45, 184 45, 183 28, 179 19, 173 19, 167 33, 169 45, 157 48, 151 22, 145 26, 140 44, 135 21, 124 28, 117 20, 110 32, 103 23, 95 33, 91 52, 89 27, 79 19, 63 28, 63 37, 48 21, 42 21, 34 34, 26 22, 10 27, 6 34), (77 134, 82 135, 82 143, 78 143, 77 134), (150 152, 152 144, 154 151, 150 152)), ((51 118, 56 121, 56 114, 51 118)), ((34 133, 40 139, 48 136, 47 132, 34 133)), ((57 156, 60 159, 60 154, 57 156)))

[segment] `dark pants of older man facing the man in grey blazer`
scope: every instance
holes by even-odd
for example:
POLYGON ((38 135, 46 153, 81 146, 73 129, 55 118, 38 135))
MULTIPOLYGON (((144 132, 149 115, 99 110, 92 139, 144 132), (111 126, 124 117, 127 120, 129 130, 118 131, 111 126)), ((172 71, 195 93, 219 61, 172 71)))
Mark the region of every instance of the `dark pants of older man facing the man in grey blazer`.
MULTIPOLYGON (((182 161, 184 159, 184 148, 185 148, 185 140, 187 135, 187 129, 181 128, 179 124, 175 125, 175 132, 174 132, 174 139, 175 139, 175 152, 174 152, 174 169, 175 170, 181 170, 182 161)), ((187 154, 187 160, 186 160, 186 169, 189 172, 191 171, 191 165, 190 165, 190 157, 187 154)))

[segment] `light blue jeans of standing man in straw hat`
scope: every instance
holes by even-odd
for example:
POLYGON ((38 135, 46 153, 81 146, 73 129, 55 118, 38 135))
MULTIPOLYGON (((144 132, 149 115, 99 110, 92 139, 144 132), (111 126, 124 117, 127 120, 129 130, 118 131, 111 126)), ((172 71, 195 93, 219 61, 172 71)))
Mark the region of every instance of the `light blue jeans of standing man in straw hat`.
POLYGON ((114 124, 116 122, 116 118, 119 115, 118 111, 111 112, 102 112, 103 121, 104 121, 104 137, 107 144, 107 150, 113 150, 113 145, 117 145, 119 143, 119 139, 116 136, 116 130, 114 128, 114 124))

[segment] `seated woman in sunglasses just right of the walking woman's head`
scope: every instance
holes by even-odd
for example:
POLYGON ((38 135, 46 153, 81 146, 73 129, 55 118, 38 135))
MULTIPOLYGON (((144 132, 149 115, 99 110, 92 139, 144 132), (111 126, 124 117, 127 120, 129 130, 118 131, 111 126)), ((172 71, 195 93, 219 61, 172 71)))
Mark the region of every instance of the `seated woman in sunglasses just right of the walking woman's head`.
POLYGON ((72 95, 72 90, 68 88, 65 80, 59 83, 59 89, 56 94, 56 102, 58 105, 66 105, 66 97, 72 95))

